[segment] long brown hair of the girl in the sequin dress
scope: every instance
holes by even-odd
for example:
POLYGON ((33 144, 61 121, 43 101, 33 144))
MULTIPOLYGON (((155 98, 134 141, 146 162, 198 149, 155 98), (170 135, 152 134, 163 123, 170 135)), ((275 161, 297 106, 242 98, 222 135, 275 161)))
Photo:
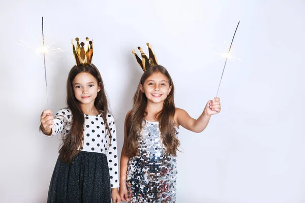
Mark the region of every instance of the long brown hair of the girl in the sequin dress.
POLYGON ((140 85, 144 84, 145 80, 149 76, 157 72, 164 74, 168 79, 169 85, 172 86, 170 93, 164 100, 162 110, 156 115, 159 121, 162 142, 166 148, 166 152, 173 156, 176 156, 177 148, 180 145, 180 142, 176 137, 174 126, 175 103, 173 81, 165 67, 161 65, 153 65, 143 73, 138 89, 133 97, 133 108, 126 118, 127 139, 124 153, 130 157, 136 156, 139 153, 137 133, 141 130, 143 118, 147 114, 147 112, 145 112, 147 97, 145 96, 145 93, 140 90, 140 85))

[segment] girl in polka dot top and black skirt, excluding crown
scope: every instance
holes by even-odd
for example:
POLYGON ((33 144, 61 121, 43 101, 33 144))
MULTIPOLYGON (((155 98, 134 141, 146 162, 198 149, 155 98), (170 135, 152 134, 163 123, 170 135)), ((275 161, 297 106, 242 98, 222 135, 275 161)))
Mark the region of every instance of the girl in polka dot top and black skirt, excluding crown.
POLYGON ((41 114, 41 133, 64 136, 47 202, 120 202, 115 121, 95 65, 71 69, 67 105, 41 114))

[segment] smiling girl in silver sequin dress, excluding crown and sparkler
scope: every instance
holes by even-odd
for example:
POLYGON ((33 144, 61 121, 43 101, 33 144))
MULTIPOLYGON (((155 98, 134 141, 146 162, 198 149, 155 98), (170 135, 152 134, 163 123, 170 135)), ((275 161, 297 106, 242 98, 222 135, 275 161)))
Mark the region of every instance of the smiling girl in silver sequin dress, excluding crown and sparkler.
POLYGON ((125 121, 120 159, 120 196, 130 202, 176 201, 176 151, 179 126, 201 132, 211 115, 220 112, 220 99, 209 100, 196 120, 174 105, 174 85, 161 65, 147 69, 125 121))

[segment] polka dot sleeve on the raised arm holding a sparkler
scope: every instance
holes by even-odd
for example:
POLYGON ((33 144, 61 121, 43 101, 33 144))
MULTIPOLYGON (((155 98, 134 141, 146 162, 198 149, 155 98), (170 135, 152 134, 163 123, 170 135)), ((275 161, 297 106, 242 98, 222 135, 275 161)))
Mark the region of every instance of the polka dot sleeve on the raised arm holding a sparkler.
POLYGON ((47 136, 39 127, 39 132, 43 136, 52 137, 58 133, 65 135, 69 133, 72 126, 72 114, 71 110, 68 108, 60 109, 56 112, 54 118, 53 118, 53 128, 52 128, 52 134, 50 136, 47 136))

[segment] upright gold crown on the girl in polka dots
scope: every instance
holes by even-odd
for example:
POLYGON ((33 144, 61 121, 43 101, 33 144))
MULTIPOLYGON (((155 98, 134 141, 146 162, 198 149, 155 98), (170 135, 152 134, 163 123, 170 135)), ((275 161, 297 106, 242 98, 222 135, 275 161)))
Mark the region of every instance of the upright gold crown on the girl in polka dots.
POLYGON ((76 65, 80 65, 80 64, 91 65, 92 57, 93 57, 93 40, 89 41, 89 38, 86 38, 87 41, 86 44, 83 42, 79 44, 79 38, 75 38, 75 41, 76 41, 76 49, 73 40, 71 40, 71 44, 73 45, 73 55, 75 57, 76 65))

